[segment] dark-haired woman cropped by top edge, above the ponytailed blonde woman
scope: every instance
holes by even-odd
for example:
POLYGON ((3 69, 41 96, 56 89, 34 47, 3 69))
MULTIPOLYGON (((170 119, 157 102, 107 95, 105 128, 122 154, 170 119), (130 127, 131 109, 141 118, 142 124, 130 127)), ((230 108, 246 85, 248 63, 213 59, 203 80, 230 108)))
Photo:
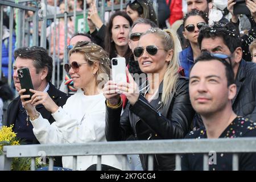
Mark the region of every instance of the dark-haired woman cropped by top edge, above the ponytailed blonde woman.
POLYGON ((158 19, 156 18, 156 13, 151 1, 131 0, 126 5, 126 13, 131 17, 133 22, 138 18, 145 18, 158 24, 158 19))

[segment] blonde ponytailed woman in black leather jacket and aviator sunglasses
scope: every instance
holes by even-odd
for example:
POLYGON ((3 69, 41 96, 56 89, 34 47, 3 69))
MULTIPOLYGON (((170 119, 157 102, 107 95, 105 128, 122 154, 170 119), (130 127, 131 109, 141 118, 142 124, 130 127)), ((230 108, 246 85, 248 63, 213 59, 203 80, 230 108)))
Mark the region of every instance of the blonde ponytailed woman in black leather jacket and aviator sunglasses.
MULTIPOLYGON (((160 28, 151 28, 141 35, 134 55, 147 81, 140 85, 126 69, 129 83, 108 81, 106 97, 106 139, 137 140, 184 138, 191 130, 195 111, 188 94, 188 80, 178 73, 177 35, 160 28), (129 100, 123 114, 122 100, 129 100)), ((147 155, 141 155, 142 167, 147 170, 147 155)), ((175 169, 175 155, 154 155, 154 170, 175 169)))

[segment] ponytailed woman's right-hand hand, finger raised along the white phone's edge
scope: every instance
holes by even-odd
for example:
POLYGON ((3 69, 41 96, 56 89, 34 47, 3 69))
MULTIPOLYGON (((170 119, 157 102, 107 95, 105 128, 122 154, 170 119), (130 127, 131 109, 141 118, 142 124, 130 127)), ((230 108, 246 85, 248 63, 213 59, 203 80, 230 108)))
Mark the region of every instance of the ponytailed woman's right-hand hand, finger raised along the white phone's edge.
POLYGON ((126 75, 129 77, 129 83, 117 84, 117 92, 124 94, 131 105, 134 105, 139 98, 139 88, 137 83, 133 80, 128 69, 126 68, 126 75))

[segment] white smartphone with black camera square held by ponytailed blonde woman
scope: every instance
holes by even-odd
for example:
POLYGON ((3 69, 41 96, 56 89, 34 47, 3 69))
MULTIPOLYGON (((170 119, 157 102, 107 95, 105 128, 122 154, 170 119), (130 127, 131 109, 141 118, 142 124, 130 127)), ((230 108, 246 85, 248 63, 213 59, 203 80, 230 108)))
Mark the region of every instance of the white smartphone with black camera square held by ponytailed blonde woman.
POLYGON ((112 64, 112 80, 116 83, 127 82, 126 79, 126 61, 125 57, 113 57, 112 64))

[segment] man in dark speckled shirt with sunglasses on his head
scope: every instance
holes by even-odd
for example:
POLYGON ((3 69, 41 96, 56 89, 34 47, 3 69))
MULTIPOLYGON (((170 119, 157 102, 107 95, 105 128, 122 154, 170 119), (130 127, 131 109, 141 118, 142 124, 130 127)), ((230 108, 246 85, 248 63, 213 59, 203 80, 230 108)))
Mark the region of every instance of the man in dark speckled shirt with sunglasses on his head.
MULTIPOLYGON (((237 116, 232 110, 236 96, 234 72, 230 57, 203 52, 191 68, 189 96, 191 104, 203 119, 204 127, 185 138, 256 137, 256 123, 237 116)), ((238 154, 240 170, 256 170, 256 154, 238 154)), ((182 170, 203 170, 203 154, 184 154, 182 170)), ((209 170, 232 170, 232 154, 218 154, 209 170)))

